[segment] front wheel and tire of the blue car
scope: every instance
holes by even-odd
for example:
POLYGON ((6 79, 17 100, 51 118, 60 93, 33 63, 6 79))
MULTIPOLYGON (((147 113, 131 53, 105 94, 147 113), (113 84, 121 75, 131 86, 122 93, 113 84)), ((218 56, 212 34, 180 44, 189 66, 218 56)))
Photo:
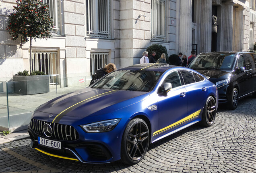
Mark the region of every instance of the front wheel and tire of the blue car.
POLYGON ((140 162, 149 147, 149 128, 145 121, 132 119, 124 130, 121 143, 121 161, 128 165, 140 162))

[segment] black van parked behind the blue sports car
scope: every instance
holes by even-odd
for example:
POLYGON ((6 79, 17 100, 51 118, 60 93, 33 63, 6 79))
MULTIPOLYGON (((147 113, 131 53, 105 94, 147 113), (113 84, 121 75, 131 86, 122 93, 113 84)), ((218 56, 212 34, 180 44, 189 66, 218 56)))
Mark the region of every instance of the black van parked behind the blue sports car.
POLYGON ((200 53, 189 64, 213 82, 219 91, 219 103, 236 109, 239 99, 256 97, 256 53, 209 52, 200 53))

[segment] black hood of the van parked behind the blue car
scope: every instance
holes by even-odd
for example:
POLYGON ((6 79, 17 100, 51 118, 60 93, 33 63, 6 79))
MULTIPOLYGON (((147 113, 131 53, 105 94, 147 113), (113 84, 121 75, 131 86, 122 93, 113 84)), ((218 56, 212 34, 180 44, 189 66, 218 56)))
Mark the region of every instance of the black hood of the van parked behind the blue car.
POLYGON ((200 72, 202 75, 206 77, 208 76, 211 82, 224 80, 231 73, 231 72, 222 71, 222 70, 196 70, 196 71, 200 72))

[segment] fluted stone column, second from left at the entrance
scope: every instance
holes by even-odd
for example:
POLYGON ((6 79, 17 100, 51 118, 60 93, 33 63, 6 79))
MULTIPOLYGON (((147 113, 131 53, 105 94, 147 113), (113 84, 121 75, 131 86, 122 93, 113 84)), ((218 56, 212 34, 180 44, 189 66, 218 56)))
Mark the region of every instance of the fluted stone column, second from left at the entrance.
MULTIPOLYGON (((211 52, 212 44, 212 0, 200 1, 199 52, 211 52)), ((198 54, 199 52, 196 52, 198 54)))

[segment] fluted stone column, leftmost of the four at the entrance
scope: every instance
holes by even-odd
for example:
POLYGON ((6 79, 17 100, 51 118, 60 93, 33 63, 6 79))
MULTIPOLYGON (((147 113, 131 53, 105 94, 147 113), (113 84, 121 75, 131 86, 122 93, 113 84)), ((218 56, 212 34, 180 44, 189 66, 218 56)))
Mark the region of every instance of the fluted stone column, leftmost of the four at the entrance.
POLYGON ((178 51, 189 56, 192 49, 192 2, 180 0, 180 29, 178 51))

